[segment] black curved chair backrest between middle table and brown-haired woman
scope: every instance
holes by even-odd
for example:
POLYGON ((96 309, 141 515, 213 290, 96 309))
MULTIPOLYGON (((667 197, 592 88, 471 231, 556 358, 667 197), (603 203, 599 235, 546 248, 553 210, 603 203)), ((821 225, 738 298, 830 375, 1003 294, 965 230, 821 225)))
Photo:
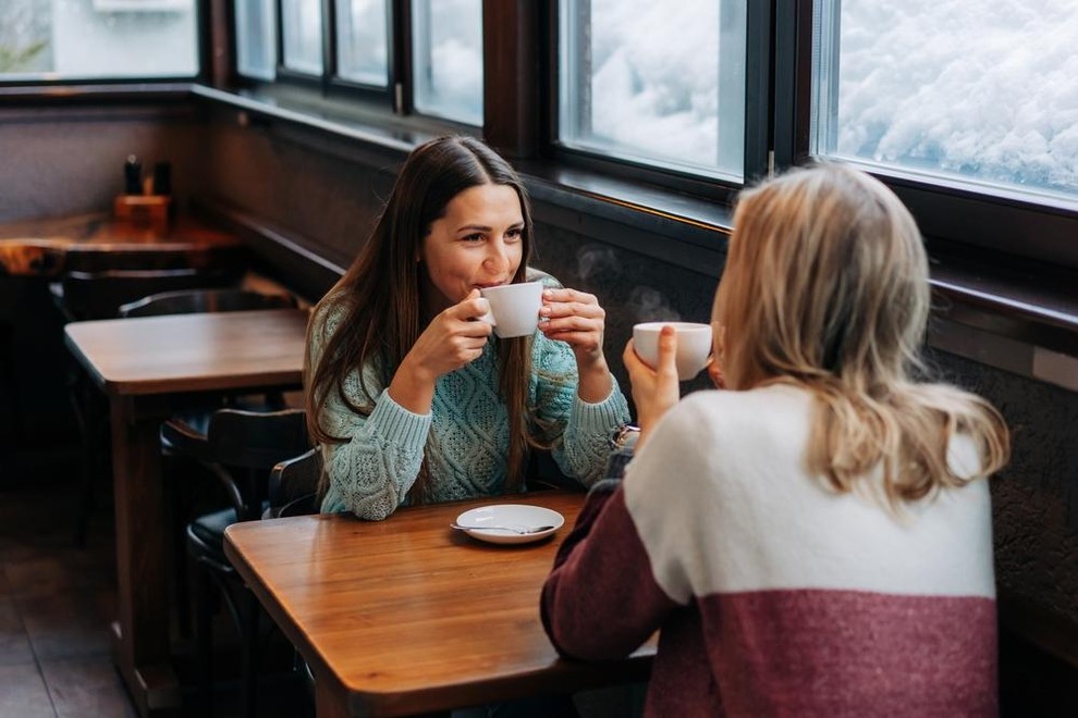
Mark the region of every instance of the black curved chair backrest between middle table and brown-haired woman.
POLYGON ((257 519, 269 492, 270 470, 310 448, 303 409, 218 409, 206 434, 207 457, 221 470, 236 518, 257 519))

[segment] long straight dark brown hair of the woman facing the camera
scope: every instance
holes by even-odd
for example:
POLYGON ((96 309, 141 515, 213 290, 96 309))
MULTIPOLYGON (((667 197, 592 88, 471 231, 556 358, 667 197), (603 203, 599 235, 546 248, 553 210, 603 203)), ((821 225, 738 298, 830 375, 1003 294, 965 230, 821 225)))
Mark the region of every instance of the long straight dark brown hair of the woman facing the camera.
MULTIPOLYGON (((416 257, 430 231, 450 201, 465 189, 495 184, 512 187, 524 215, 523 253, 513 276, 523 282, 532 251, 531 208, 524 183, 510 164, 477 139, 465 136, 440 137, 420 145, 408 156, 396 177, 373 232, 343 277, 315 307, 307 329, 307 346, 315 332, 326 332, 326 320, 340 315, 338 330, 318 337, 322 351, 315 366, 310 356, 304 364, 307 422, 311 438, 323 444, 346 443, 348 437, 331 435, 321 423, 321 411, 331 392, 352 411, 369 416, 377 391, 366 385, 364 367, 375 367, 380 386, 388 386, 405 355, 426 329, 421 317, 422 282, 426 271, 416 257), (344 391, 344 380, 359 372, 367 401, 356 404, 344 391)), ((531 372, 531 338, 499 339, 497 345, 500 391, 510 421, 510 453, 506 488, 519 487, 534 443, 526 410, 531 372)), ((428 437, 428 444, 433 435, 428 437)), ((429 451, 408 492, 414 504, 422 504, 430 492, 429 451)), ((323 476, 323 483, 326 476, 323 476)), ((324 488, 324 486, 323 486, 324 488)))

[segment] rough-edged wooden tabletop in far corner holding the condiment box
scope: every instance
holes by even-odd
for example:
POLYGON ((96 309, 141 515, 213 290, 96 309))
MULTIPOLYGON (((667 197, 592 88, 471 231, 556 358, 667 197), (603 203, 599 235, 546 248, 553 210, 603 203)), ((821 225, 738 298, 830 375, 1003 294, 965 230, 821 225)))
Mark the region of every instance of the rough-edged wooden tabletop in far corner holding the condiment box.
POLYGON ((139 269, 155 268, 149 255, 182 253, 186 265, 198 268, 232 261, 242 246, 234 235, 184 215, 162 228, 103 212, 29 220, 0 225, 0 275, 56 277, 99 264, 101 252, 144 256, 139 269))

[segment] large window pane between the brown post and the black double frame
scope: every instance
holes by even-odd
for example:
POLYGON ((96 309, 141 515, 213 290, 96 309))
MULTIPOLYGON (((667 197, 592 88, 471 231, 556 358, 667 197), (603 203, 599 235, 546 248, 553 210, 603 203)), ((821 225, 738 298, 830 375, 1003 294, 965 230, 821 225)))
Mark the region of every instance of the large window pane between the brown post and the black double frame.
POLYGON ((742 180, 743 0, 562 0, 559 16, 564 145, 742 180))

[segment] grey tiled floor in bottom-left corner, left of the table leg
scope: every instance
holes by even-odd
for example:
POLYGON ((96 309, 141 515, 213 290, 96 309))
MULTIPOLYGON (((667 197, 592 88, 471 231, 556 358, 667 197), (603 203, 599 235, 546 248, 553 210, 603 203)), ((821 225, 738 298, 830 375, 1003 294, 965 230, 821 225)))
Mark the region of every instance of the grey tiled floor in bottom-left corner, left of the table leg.
POLYGON ((71 484, 41 478, 0 484, 0 716, 135 716, 109 658, 111 527, 76 548, 71 484))

